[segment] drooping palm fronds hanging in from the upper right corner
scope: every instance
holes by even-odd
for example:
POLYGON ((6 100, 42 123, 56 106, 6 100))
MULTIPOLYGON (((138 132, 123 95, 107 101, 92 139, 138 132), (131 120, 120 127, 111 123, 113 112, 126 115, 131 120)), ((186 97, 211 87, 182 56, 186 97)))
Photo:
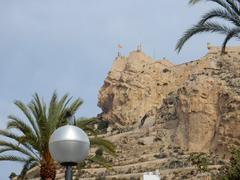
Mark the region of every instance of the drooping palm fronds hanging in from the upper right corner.
MULTIPOLYGON (((190 4, 196 4, 202 0, 190 0, 190 4)), ((188 29, 183 36, 178 40, 176 50, 181 51, 182 47, 192 36, 203 32, 220 33, 225 35, 225 39, 222 43, 222 53, 225 51, 225 47, 228 41, 232 38, 239 39, 240 33, 240 0, 206 0, 216 3, 219 8, 210 10, 202 16, 200 21, 193 27, 188 29), (221 19, 226 21, 229 25, 222 24, 217 21, 211 21, 215 19, 221 19)))

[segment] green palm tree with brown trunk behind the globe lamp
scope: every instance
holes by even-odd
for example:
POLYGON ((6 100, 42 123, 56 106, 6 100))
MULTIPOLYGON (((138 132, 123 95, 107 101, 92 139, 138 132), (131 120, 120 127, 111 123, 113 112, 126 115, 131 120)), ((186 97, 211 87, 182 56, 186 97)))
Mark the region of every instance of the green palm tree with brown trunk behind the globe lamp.
MULTIPOLYGON (((0 130, 0 135, 4 137, 4 140, 0 140, 0 161, 23 163, 22 175, 32 167, 40 166, 42 179, 54 179, 56 163, 50 155, 48 141, 54 130, 67 124, 68 116, 73 116, 82 104, 80 99, 71 100, 68 95, 58 100, 57 94, 54 93, 48 108, 38 94, 34 94, 33 100, 28 105, 15 101, 15 105, 23 112, 26 120, 14 115, 8 117, 7 130, 0 130), (18 154, 8 152, 18 152, 18 154)), ((87 127, 89 122, 90 120, 78 121, 78 126, 91 134, 93 130, 87 127)), ((94 141, 93 139, 91 141, 94 141)), ((104 139, 97 142, 100 144, 101 140, 105 143, 101 144, 102 146, 112 153, 115 152, 114 145, 104 139)))

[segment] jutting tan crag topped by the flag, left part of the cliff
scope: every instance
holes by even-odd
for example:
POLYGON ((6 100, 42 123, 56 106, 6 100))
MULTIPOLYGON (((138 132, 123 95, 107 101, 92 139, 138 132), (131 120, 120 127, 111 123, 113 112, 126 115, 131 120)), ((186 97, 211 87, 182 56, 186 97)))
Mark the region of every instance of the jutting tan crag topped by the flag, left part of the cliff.
POLYGON ((190 75, 212 67, 208 61, 174 65, 167 60, 154 61, 138 51, 118 57, 99 92, 102 118, 115 125, 134 125, 159 107, 163 98, 190 75))

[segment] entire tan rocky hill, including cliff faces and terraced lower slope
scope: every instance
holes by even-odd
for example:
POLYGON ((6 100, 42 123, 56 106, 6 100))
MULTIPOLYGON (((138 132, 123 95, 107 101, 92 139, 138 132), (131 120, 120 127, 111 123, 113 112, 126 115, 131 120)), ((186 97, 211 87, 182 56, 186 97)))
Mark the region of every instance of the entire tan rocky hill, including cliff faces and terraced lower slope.
MULTIPOLYGON (((165 180, 211 180, 232 147, 240 145, 240 47, 208 46, 208 54, 180 65, 141 51, 119 56, 99 91, 102 137, 114 142, 112 168, 88 164, 74 179, 141 179, 157 171, 165 180), (105 133, 107 131, 107 133, 105 133), (194 166, 205 152, 208 171, 194 166)), ((39 169, 29 179, 39 179, 39 169)), ((59 167, 57 178, 64 179, 59 167)))

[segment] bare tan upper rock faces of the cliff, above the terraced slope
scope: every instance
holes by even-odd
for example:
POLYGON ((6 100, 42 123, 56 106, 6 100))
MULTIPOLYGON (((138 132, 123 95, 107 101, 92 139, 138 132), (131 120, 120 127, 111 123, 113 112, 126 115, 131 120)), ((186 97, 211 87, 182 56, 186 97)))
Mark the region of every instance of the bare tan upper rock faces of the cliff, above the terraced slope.
POLYGON ((203 58, 174 65, 141 51, 115 59, 99 92, 100 117, 136 129, 164 124, 170 143, 226 153, 240 145, 240 47, 208 46, 203 58))

